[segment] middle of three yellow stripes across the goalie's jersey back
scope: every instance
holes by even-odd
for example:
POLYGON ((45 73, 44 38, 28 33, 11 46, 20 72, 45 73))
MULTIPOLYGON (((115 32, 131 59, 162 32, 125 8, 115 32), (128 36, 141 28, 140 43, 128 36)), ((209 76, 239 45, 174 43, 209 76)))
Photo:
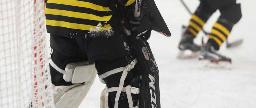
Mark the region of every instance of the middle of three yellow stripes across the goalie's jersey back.
POLYGON ((45 9, 45 14, 61 15, 61 16, 67 16, 67 17, 73 17, 73 18, 95 20, 95 21, 109 21, 112 17, 112 15, 101 17, 93 14, 72 12, 68 10, 50 9, 50 8, 45 9))

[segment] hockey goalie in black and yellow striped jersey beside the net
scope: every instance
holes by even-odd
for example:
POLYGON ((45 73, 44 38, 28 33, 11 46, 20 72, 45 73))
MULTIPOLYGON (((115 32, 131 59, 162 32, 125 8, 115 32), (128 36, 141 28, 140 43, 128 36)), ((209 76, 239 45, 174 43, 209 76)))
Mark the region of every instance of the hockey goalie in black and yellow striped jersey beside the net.
POLYGON ((170 33, 153 0, 46 0, 45 16, 56 108, 77 108, 97 73, 102 108, 160 108, 146 40, 151 30, 170 33))

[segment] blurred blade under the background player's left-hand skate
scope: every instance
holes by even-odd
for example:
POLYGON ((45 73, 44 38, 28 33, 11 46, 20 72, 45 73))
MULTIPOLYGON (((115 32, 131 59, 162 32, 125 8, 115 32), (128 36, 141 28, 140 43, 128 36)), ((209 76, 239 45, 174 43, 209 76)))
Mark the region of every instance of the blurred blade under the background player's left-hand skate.
POLYGON ((182 51, 180 50, 177 58, 178 59, 192 59, 192 58, 197 58, 199 56, 199 51, 191 51, 191 50, 185 50, 182 51))

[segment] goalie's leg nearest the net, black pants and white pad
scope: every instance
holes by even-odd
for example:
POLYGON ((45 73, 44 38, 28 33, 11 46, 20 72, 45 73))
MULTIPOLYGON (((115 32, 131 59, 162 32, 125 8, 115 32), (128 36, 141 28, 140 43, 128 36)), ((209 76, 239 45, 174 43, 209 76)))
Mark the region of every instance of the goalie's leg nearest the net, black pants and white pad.
POLYGON ((84 63, 88 61, 88 57, 86 52, 79 47, 76 38, 51 35, 50 46, 52 53, 49 67, 54 85, 55 107, 76 108, 94 81, 96 72, 92 73, 88 70, 88 67, 94 67, 94 65, 84 63), (76 76, 77 74, 83 75, 84 80, 81 81, 81 78, 76 76), (74 83, 73 80, 80 80, 80 82, 74 83))

